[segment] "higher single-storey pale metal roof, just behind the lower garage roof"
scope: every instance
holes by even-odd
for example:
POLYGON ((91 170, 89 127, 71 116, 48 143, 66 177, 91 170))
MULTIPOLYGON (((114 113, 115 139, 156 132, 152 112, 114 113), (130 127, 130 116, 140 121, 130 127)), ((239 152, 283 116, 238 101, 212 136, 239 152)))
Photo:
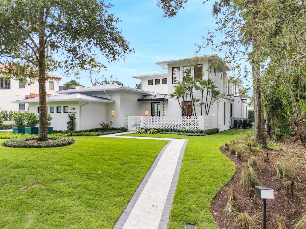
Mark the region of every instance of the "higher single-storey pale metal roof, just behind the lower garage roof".
POLYGON ((100 85, 100 86, 93 86, 93 87, 68 89, 68 90, 57 91, 55 93, 70 94, 70 93, 82 93, 82 92, 92 92, 92 91, 116 91, 116 90, 127 90, 131 92, 147 94, 147 95, 156 94, 154 92, 144 91, 141 89, 131 88, 131 87, 118 85, 118 84, 108 84, 108 85, 100 85))

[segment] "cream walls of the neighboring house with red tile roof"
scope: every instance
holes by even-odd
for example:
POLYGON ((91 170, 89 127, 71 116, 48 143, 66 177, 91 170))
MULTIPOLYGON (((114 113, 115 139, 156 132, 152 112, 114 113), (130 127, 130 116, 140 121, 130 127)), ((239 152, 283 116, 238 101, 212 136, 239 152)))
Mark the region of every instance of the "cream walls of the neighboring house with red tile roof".
MULTIPOLYGON (((55 95, 59 90, 59 81, 61 77, 47 74, 46 92, 47 96, 55 95)), ((0 75, 0 109, 7 111, 27 111, 28 103, 15 104, 14 100, 23 100, 39 97, 39 84, 35 81, 28 84, 26 81, 6 79, 0 75)))

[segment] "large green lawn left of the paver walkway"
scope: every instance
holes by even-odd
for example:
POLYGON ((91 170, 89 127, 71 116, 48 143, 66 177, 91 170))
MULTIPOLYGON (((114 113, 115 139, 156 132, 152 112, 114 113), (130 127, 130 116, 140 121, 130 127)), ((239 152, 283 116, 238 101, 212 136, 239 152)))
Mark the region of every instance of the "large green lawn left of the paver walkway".
POLYGON ((0 147, 1 228, 112 228, 167 142, 74 138, 65 147, 0 147))

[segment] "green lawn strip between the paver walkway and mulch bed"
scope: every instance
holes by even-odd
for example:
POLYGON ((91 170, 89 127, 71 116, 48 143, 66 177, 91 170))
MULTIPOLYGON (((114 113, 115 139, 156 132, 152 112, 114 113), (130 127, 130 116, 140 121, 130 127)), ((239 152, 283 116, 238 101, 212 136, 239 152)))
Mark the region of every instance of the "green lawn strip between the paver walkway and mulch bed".
MULTIPOLYGON (((196 224, 198 229, 218 228, 210 205, 218 191, 231 180, 236 165, 219 150, 220 146, 245 130, 227 130, 208 136, 145 134, 137 136, 188 139, 168 227, 183 229, 196 224)), ((135 135, 133 135, 135 136, 135 135)))

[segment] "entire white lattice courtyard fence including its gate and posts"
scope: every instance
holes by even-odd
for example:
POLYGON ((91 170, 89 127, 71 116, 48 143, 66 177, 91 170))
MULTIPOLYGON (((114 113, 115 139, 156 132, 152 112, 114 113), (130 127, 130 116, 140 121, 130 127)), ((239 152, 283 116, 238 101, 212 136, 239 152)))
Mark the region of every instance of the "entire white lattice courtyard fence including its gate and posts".
POLYGON ((123 116, 122 126, 128 130, 139 128, 213 129, 215 116, 123 116))

